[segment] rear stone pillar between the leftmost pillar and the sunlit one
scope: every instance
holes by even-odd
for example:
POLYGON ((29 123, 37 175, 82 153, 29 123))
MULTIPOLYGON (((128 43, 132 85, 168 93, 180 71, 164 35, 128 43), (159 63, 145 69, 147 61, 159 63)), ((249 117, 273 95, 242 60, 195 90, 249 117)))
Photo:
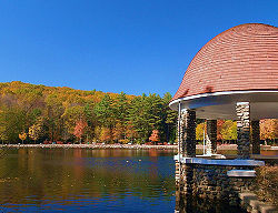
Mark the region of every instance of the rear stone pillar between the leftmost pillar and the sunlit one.
POLYGON ((207 154, 217 152, 217 120, 207 120, 207 154))

